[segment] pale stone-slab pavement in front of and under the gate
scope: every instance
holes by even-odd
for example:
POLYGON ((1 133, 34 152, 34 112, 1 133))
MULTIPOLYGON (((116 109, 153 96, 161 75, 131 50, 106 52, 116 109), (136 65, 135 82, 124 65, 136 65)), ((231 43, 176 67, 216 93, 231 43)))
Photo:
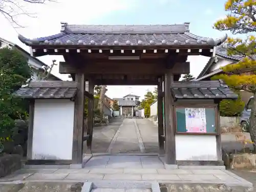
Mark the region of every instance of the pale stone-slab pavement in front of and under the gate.
POLYGON ((94 156, 82 169, 20 169, 3 181, 211 183, 252 184, 225 169, 165 169, 158 156, 94 156))

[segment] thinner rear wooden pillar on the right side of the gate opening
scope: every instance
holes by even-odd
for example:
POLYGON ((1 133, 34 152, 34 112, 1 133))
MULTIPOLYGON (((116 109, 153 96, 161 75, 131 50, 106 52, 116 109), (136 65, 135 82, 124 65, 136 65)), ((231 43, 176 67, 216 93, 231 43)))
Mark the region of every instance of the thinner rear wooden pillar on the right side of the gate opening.
POLYGON ((164 130, 163 130, 163 78, 158 78, 157 86, 157 116, 158 116, 158 144, 160 154, 164 153, 164 130))

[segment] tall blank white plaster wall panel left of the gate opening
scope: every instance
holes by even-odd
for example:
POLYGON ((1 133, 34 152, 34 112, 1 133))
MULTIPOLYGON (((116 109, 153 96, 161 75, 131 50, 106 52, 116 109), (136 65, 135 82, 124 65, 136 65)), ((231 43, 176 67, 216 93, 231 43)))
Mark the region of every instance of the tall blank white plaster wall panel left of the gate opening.
POLYGON ((36 99, 32 159, 72 159, 74 102, 36 99))

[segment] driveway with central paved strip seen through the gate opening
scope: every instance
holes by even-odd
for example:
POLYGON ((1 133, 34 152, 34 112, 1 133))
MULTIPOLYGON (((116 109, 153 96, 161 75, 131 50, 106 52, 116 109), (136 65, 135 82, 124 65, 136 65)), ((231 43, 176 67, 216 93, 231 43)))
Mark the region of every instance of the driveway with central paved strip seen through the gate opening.
POLYGON ((147 119, 114 119, 94 127, 92 152, 106 154, 158 154, 158 129, 147 119))

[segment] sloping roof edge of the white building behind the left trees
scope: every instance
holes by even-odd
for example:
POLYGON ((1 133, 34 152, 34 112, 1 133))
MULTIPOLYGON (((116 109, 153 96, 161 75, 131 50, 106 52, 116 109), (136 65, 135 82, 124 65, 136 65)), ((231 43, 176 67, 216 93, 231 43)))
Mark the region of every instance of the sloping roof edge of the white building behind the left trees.
MULTIPOLYGON (((0 37, 0 41, 1 41, 1 42, 4 42, 5 44, 7 44, 7 45, 10 46, 10 47, 16 48, 18 51, 22 52, 25 57, 34 60, 34 62, 38 63, 39 65, 48 67, 48 65, 46 65, 46 63, 42 62, 40 59, 38 59, 38 58, 36 58, 36 57, 34 57, 34 56, 31 56, 31 54, 30 54, 29 52, 27 52, 26 50, 24 50, 24 49, 21 48, 20 46, 14 44, 13 42, 8 41, 8 40, 6 40, 6 39, 4 39, 4 38, 1 38, 1 37, 0 37)), ((51 75, 52 77, 58 79, 58 80, 62 80, 62 79, 58 78, 57 76, 53 75, 52 73, 51 73, 50 75, 51 75)))

